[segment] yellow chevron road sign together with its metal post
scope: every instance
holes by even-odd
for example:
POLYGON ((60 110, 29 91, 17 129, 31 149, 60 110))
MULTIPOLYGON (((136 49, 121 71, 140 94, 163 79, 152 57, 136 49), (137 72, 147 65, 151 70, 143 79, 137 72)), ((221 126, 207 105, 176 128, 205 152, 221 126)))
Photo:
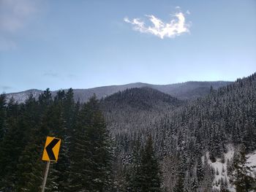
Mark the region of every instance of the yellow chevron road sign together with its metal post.
POLYGON ((45 176, 42 180, 42 192, 45 192, 46 180, 50 168, 50 161, 58 161, 59 147, 61 146, 61 139, 55 137, 47 137, 45 142, 45 149, 42 153, 42 161, 47 161, 45 167, 45 176))

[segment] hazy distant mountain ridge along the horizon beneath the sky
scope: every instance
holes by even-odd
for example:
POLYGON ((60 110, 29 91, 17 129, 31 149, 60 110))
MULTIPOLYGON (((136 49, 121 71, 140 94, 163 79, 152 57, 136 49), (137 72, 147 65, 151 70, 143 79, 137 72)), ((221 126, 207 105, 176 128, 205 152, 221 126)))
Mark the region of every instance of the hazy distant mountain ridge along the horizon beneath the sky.
MULTIPOLYGON (((199 96, 204 96, 209 93, 211 86, 214 89, 230 84, 231 82, 226 81, 216 81, 216 82, 182 82, 170 85, 152 85, 142 82, 130 83, 127 85, 110 85, 99 88, 88 88, 88 89, 74 89, 74 99, 76 101, 80 100, 80 102, 86 102, 88 99, 96 94, 96 96, 101 99, 106 96, 110 96, 113 93, 117 93, 118 91, 124 91, 127 88, 154 88, 158 91, 162 91, 163 93, 167 93, 170 96, 174 96, 178 99, 196 99, 199 96)), ((66 90, 65 90, 66 91, 66 90)), ((18 93, 7 93, 7 99, 13 97, 15 101, 18 103, 24 102, 29 94, 37 99, 39 94, 42 93, 41 90, 31 89, 27 91, 22 91, 18 93)), ((52 95, 56 96, 57 91, 52 91, 52 95)))

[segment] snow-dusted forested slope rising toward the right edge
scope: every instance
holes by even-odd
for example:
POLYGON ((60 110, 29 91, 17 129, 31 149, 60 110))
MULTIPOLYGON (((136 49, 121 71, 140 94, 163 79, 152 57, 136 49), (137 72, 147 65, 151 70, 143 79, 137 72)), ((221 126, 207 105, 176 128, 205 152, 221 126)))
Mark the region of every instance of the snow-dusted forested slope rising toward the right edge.
MULTIPOLYGON (((124 93, 119 97, 136 98, 129 91, 124 93)), ((116 136, 115 155, 121 162, 116 164, 117 172, 132 169, 127 162, 135 154, 135 142, 140 140, 143 145, 151 135, 161 160, 165 191, 236 191, 236 180, 249 185, 234 167, 241 166, 240 161, 256 164, 255 99, 256 73, 175 107, 137 110, 142 109, 140 104, 147 106, 147 99, 140 99, 129 110, 116 107, 105 112, 116 136)), ((256 169, 251 168, 243 171, 243 177, 256 177, 256 169)), ((250 185, 256 186, 256 180, 250 185)))

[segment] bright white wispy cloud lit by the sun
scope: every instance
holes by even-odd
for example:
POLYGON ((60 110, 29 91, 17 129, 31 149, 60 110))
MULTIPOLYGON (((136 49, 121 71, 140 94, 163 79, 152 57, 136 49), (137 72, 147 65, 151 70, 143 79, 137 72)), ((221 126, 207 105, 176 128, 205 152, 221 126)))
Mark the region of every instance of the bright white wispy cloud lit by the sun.
POLYGON ((129 20, 124 18, 124 22, 130 23, 135 31, 140 33, 154 34, 155 36, 164 39, 165 37, 175 38, 181 34, 189 33, 189 24, 185 22, 185 16, 182 12, 176 12, 174 18, 169 23, 165 23, 154 15, 146 15, 153 26, 147 26, 145 21, 140 18, 129 20))

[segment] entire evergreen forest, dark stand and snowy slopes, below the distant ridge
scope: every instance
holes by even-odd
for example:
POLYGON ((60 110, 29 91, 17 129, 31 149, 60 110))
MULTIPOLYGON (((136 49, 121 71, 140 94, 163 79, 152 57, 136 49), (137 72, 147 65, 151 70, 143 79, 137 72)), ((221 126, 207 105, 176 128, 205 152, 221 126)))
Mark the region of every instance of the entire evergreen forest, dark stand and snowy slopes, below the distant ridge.
POLYGON ((47 136, 61 138, 47 191, 253 191, 256 74, 181 101, 153 88, 75 101, 0 96, 0 191, 39 191, 47 136))

